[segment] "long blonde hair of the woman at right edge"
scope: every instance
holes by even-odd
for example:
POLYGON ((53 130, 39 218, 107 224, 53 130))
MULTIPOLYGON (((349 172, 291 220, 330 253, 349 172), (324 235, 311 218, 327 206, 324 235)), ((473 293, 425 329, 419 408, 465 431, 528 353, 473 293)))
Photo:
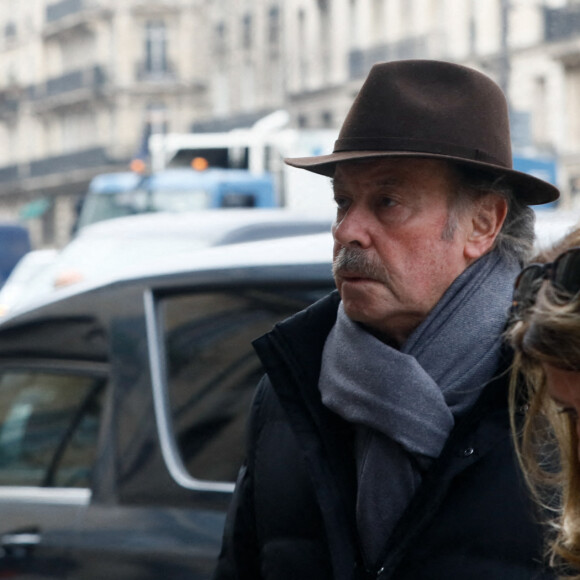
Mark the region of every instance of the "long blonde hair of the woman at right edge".
MULTIPOLYGON (((580 246, 580 228, 534 261, 551 262, 575 246, 580 246)), ((512 324, 507 338, 515 351, 510 410, 518 459, 534 498, 549 514, 551 565, 561 578, 580 580, 578 419, 558 412, 543 370, 549 364, 580 372, 580 297, 563 300, 544 281, 534 305, 512 324)))

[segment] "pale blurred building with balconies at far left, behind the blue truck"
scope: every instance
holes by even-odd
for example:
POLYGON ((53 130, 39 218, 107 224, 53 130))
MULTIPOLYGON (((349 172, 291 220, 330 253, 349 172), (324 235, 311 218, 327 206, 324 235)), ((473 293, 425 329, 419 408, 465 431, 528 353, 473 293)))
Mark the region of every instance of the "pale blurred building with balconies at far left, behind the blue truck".
POLYGON ((190 130, 204 23, 184 0, 0 10, 1 215, 30 218, 38 244, 62 245, 95 174, 126 169, 152 132, 190 130))

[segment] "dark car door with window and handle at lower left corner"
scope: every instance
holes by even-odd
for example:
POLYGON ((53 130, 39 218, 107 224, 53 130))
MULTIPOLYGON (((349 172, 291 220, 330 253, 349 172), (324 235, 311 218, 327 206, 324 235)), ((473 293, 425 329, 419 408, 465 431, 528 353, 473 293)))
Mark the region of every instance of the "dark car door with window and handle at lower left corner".
POLYGON ((0 578, 74 571, 106 382, 98 363, 0 362, 0 578))

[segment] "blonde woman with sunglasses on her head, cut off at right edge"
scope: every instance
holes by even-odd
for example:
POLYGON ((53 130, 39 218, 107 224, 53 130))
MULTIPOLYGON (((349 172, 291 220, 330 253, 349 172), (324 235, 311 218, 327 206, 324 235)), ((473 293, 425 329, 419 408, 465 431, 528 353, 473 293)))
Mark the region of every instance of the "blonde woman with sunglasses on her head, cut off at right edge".
POLYGON ((580 228, 516 280, 512 426, 534 497, 551 514, 550 562, 580 579, 580 228))

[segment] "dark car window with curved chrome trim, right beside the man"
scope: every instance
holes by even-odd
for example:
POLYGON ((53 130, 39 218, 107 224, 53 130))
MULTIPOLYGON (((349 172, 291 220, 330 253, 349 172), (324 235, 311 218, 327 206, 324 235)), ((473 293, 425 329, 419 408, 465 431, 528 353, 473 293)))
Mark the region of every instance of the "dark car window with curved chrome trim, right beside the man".
POLYGON ((173 428, 193 478, 235 481, 247 413, 263 374, 251 342, 328 291, 239 290, 163 301, 173 428))

